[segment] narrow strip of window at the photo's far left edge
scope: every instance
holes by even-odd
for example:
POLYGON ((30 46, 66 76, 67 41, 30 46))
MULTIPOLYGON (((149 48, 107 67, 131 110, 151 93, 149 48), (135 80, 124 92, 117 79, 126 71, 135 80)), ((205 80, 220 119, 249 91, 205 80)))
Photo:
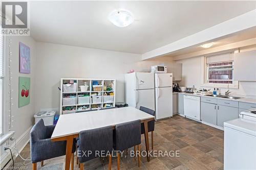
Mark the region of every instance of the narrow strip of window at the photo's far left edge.
MULTIPOLYGON (((0 31, 2 28, 0 27, 0 31)), ((1 31, 2 32, 2 31, 1 31)), ((4 37, 2 34, 0 34, 0 134, 3 133, 3 101, 4 101, 4 95, 3 95, 3 87, 4 87, 4 75, 5 73, 5 66, 4 66, 4 37)))

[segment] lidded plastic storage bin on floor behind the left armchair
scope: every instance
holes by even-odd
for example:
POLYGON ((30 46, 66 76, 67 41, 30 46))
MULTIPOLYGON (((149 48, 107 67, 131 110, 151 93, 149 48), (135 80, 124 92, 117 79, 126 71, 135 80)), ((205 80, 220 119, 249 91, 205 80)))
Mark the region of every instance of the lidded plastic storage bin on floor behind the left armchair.
POLYGON ((56 111, 38 112, 34 115, 35 123, 37 123, 42 118, 44 120, 45 126, 53 125, 55 114, 56 114, 56 111))

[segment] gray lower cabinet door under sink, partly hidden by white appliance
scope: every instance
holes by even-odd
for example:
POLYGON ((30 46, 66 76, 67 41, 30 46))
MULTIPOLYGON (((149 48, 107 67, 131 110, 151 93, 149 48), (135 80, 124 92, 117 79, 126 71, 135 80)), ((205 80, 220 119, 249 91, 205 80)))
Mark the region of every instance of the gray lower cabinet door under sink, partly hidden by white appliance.
POLYGON ((229 106, 217 106, 217 125, 223 127, 223 123, 238 118, 238 108, 229 106))

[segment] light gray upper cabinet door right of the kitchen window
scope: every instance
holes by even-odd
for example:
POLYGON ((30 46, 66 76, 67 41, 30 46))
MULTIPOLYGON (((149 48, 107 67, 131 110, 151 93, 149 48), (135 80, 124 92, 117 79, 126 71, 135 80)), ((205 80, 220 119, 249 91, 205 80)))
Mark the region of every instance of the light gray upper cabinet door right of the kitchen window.
POLYGON ((234 80, 256 81, 256 51, 234 53, 234 80), (249 69, 248 69, 249 68, 249 69))

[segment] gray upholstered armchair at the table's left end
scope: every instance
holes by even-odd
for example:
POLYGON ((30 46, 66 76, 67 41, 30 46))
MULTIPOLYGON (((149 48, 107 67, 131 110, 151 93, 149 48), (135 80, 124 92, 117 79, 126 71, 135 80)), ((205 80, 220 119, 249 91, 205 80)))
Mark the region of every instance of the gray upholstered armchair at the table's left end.
MULTIPOLYGON (((33 170, 36 170, 36 163, 44 160, 66 155, 66 141, 51 141, 55 125, 45 126, 44 120, 40 119, 30 131, 30 154, 33 170)), ((75 142, 73 143, 71 167, 74 167, 75 142), (72 165, 73 162, 73 165, 72 165)))

